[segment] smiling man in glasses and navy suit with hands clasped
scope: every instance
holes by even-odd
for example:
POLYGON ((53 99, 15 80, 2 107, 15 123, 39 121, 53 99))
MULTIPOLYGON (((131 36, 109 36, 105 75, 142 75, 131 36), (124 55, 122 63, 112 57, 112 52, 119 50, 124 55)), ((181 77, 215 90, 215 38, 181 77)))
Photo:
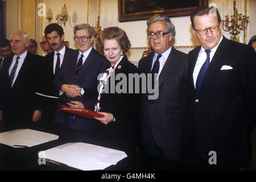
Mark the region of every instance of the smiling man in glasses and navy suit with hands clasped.
MULTIPOLYGON (((69 51, 63 61, 59 74, 54 79, 57 91, 64 92, 61 97, 72 100, 75 105, 83 104, 86 109, 93 110, 96 100, 82 97, 79 88, 97 90, 97 77, 105 71, 106 59, 92 47, 94 30, 89 24, 77 24, 74 28, 74 39, 79 49, 69 51), (77 102, 76 102, 77 101, 77 102), (79 101, 79 102, 78 102, 79 101)), ((59 102, 55 114, 55 122, 60 126, 61 137, 71 137, 82 142, 93 142, 96 137, 96 121, 61 111, 59 102)))

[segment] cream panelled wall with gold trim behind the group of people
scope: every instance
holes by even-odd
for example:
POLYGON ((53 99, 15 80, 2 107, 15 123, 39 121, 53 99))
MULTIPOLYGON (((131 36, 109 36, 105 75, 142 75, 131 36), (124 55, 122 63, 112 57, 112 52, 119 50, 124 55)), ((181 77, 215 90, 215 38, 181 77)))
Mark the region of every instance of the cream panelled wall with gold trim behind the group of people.
MULTIPOLYGON (((7 12, 7 21, 6 21, 6 35, 7 38, 10 37, 12 31, 17 29, 22 30, 22 10, 23 10, 23 0, 4 0, 6 1, 6 12, 7 12), (17 8, 18 7, 18 8, 17 8), (17 21, 17 10, 18 10, 18 21, 17 21), (9 13, 11 12, 11 13, 9 13), (18 22, 18 23, 17 23, 18 22)), ((97 1, 97 0, 89 0, 97 1)), ((248 0, 251 1, 251 0, 248 0)), ((253 0, 255 1, 255 0, 253 0)), ((61 12, 64 3, 68 9, 69 19, 66 22, 65 26, 59 22, 63 27, 65 32, 65 41, 69 41, 69 47, 76 48, 75 42, 73 40, 73 27, 75 24, 87 23, 87 4, 88 0, 36 0, 36 40, 39 43, 41 35, 43 34, 44 28, 48 25, 48 20, 46 17, 40 18, 38 13, 38 3, 43 2, 46 4, 46 11, 51 8, 53 16, 61 12), (41 22, 42 21, 42 22, 41 22)), ((217 6, 221 6, 221 0, 210 0, 209 2, 216 2, 217 6)), ((251 5, 251 3, 249 3, 251 5)), ((239 8, 239 7, 238 7, 239 8)), ((232 9, 232 6, 230 7, 232 9)), ((255 11, 254 10, 250 11, 255 11)), ((90 9, 92 12, 97 14, 96 10, 90 9)), ((221 16, 225 14, 224 11, 220 10, 221 16)), ((223 17, 222 17, 223 18, 223 17)), ((174 41, 174 46, 196 46, 199 45, 196 38, 191 33, 191 22, 189 16, 181 16, 171 18, 172 23, 176 27, 176 37, 174 41)), ((89 20, 89 22, 91 22, 89 20)), ((51 21, 55 23, 55 18, 51 21)), ((94 23, 96 24, 96 23, 94 23)), ((250 22, 248 32, 253 34, 255 32, 255 21, 250 22), (251 28, 250 28, 251 27, 251 28), (253 29, 254 28, 254 29, 253 29)), ((131 50, 129 53, 130 61, 138 61, 145 49, 143 47, 149 47, 148 39, 146 36, 146 20, 138 20, 132 22, 118 22, 118 0, 101 0, 101 27, 104 29, 109 26, 118 26, 123 28, 129 36, 131 47, 137 48, 136 50, 131 50)), ((224 32, 224 35, 229 38, 229 33, 224 32)), ((242 36, 241 36, 242 38, 242 36)), ((248 38, 249 39, 249 38, 248 38)), ((249 40, 247 40, 249 41, 249 40)), ((188 52, 190 49, 181 49, 183 52, 188 52)), ((39 49, 38 54, 41 54, 39 49)), ((44 54, 43 54, 44 55, 44 54)))

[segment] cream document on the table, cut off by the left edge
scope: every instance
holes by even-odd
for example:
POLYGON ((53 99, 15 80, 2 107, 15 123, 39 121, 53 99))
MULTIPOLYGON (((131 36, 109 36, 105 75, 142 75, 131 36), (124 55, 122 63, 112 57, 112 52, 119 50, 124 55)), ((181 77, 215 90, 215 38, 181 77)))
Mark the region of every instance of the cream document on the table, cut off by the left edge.
POLYGON ((32 147, 58 139, 59 136, 31 129, 18 129, 0 133, 0 143, 11 147, 32 147))

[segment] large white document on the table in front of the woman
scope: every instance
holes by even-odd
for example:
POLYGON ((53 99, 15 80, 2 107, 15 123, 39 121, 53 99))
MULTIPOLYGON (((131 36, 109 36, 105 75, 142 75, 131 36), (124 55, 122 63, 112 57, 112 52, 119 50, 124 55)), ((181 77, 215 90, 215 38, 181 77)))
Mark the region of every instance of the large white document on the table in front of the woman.
POLYGON ((88 143, 66 143, 40 152, 39 156, 84 171, 105 169, 127 157, 123 151, 88 143))

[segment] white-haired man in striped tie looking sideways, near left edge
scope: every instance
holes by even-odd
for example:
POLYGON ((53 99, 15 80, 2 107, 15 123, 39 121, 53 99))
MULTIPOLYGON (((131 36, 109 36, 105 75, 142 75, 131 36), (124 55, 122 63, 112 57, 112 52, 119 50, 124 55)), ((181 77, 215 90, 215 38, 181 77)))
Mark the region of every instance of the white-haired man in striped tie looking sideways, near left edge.
POLYGON ((42 116, 39 90, 40 60, 27 52, 30 39, 25 32, 11 34, 11 51, 1 73, 1 108, 7 129, 30 127, 42 116))

